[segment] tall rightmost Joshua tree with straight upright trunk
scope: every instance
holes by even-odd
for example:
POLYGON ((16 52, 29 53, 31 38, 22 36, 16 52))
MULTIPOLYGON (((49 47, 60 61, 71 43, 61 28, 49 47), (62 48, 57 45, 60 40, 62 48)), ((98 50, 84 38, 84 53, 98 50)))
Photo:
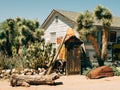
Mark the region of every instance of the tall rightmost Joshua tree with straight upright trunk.
POLYGON ((102 51, 101 51, 101 59, 102 65, 104 65, 104 61, 107 59, 107 41, 108 41, 108 30, 110 28, 112 22, 112 14, 109 9, 98 5, 94 9, 94 14, 96 19, 102 23, 102 51))

